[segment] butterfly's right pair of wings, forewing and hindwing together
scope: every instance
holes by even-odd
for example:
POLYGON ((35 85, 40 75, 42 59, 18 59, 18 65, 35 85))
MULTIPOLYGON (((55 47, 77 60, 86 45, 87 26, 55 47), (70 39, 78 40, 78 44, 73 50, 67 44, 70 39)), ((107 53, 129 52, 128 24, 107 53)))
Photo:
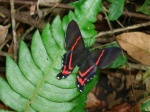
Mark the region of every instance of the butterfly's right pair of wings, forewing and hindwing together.
POLYGON ((118 47, 105 48, 103 50, 95 49, 91 53, 88 53, 77 75, 79 91, 82 92, 84 85, 93 78, 96 74, 97 67, 103 69, 109 66, 121 53, 122 49, 118 47))

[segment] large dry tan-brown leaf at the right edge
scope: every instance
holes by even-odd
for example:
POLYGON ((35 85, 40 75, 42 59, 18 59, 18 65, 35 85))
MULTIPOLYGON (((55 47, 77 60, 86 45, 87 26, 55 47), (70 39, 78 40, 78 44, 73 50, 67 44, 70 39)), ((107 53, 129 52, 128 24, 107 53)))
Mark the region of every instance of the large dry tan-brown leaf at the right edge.
POLYGON ((118 35, 116 38, 129 56, 142 64, 150 65, 150 35, 130 32, 118 35))

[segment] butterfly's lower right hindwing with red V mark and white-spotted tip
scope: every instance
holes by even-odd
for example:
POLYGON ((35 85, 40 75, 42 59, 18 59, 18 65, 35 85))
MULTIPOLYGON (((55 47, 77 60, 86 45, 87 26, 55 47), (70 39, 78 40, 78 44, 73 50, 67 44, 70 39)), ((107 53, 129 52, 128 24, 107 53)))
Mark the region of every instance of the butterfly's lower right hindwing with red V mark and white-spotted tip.
POLYGON ((97 66, 88 56, 80 66, 77 75, 77 86, 80 92, 83 91, 85 84, 96 74, 96 69, 97 66))

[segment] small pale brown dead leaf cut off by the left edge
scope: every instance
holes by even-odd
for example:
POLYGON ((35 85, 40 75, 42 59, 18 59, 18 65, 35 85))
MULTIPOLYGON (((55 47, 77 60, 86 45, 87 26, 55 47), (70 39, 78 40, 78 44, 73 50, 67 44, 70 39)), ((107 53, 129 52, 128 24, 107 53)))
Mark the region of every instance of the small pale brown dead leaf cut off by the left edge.
POLYGON ((0 44, 2 44, 8 34, 8 28, 0 25, 0 44))

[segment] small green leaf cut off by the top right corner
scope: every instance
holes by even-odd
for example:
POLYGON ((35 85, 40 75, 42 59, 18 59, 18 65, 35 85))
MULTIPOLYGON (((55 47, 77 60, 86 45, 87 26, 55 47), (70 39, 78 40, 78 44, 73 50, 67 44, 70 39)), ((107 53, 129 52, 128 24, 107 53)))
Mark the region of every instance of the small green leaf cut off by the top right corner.
POLYGON ((137 11, 150 16, 150 0, 146 0, 144 4, 137 11))

